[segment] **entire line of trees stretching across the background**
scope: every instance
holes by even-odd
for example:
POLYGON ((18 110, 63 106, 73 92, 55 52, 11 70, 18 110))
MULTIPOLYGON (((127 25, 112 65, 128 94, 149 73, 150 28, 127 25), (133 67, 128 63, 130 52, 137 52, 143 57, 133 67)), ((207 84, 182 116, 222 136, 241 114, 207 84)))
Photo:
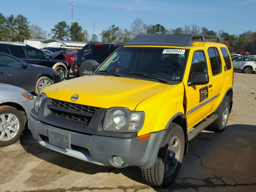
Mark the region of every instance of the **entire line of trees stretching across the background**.
MULTIPOLYGON (((68 25, 65 21, 60 21, 51 29, 48 34, 38 25, 29 25, 28 18, 19 14, 17 16, 5 17, 0 13, 0 41, 19 41, 26 38, 46 39, 56 38, 58 40, 71 40, 83 42, 98 42, 96 34, 90 36, 88 31, 83 29, 78 22, 68 25)), ((136 18, 130 28, 121 29, 115 24, 100 33, 102 42, 128 42, 139 34, 206 34, 219 36, 222 43, 226 44, 230 52, 248 51, 256 52, 256 32, 244 32, 239 35, 228 34, 223 29, 218 32, 208 30, 196 24, 185 25, 175 29, 166 29, 162 24, 145 24, 141 18, 136 18)))

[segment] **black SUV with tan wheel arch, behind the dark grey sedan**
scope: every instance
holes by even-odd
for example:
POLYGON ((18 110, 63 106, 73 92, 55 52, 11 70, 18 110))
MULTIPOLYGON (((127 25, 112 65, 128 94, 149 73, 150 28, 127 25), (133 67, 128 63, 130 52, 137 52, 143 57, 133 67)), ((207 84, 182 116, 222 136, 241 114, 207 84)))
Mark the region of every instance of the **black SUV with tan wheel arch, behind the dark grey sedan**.
POLYGON ((63 80, 68 72, 68 63, 64 60, 54 59, 41 50, 25 45, 0 43, 0 52, 16 56, 29 64, 36 64, 53 68, 60 79, 63 80))

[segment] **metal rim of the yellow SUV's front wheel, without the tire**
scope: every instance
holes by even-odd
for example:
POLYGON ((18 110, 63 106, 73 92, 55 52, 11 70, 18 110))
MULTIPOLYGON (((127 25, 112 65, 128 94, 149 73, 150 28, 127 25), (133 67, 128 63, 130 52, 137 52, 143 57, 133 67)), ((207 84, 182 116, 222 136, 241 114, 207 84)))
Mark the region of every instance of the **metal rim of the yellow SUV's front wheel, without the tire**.
POLYGON ((178 136, 174 136, 169 145, 166 152, 165 157, 165 168, 164 172, 167 176, 171 176, 175 171, 178 160, 180 159, 180 139, 178 136))

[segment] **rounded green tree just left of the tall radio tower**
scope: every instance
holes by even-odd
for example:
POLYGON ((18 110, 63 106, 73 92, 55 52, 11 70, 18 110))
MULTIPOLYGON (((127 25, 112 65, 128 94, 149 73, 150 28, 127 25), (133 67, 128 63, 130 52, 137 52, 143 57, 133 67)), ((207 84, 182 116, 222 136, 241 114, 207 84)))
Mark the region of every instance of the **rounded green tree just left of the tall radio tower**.
POLYGON ((68 26, 65 21, 61 21, 54 25, 54 28, 51 29, 51 32, 53 33, 52 38, 64 40, 69 36, 70 26, 68 26))

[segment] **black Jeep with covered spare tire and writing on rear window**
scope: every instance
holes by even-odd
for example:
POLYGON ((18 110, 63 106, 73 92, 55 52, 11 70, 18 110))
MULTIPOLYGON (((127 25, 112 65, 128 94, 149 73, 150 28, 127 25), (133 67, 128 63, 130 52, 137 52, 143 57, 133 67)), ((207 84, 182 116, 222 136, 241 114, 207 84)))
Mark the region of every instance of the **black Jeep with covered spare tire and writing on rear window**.
POLYGON ((76 62, 71 65, 74 76, 92 74, 114 50, 124 44, 114 43, 89 43, 77 54, 76 62))

